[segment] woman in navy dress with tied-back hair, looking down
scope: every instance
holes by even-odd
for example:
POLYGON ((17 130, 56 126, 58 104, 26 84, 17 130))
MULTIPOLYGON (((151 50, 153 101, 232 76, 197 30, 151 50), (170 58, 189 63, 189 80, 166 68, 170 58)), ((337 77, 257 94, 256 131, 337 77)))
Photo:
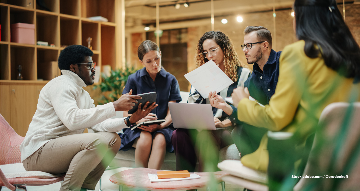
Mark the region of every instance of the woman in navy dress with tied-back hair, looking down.
MULTIPOLYGON (((138 57, 145 67, 129 76, 122 94, 131 89, 132 94, 156 92, 158 106, 137 123, 157 119, 166 121, 160 125, 141 125, 134 130, 123 129, 123 134, 119 134, 120 150, 135 147, 136 167, 161 169, 166 151, 174 152, 170 140, 174 127, 167 103, 181 101, 179 83, 175 76, 161 67, 161 51, 154 42, 142 42, 138 48, 138 57)), ((124 117, 126 116, 130 114, 124 111, 124 117)))

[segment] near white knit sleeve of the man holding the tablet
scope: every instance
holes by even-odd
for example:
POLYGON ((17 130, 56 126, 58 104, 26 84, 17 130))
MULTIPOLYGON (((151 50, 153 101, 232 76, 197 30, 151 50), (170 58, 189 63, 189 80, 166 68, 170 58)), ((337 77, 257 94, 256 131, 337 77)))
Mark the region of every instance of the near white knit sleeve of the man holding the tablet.
MULTIPOLYGON (((79 108, 78 105, 89 104, 92 99, 88 93, 87 96, 80 98, 79 92, 77 92, 76 87, 72 84, 63 82, 54 83, 50 86, 48 92, 51 92, 49 99, 57 116, 69 130, 81 130, 94 126, 95 130, 105 131, 107 127, 99 123, 116 115, 113 103, 97 107, 91 103, 93 107, 89 109, 79 108)), ((118 125, 121 125, 121 122, 118 125)), ((109 125, 109 127, 112 126, 109 125)), ((113 128, 109 128, 106 131, 108 130, 115 131, 113 128)))

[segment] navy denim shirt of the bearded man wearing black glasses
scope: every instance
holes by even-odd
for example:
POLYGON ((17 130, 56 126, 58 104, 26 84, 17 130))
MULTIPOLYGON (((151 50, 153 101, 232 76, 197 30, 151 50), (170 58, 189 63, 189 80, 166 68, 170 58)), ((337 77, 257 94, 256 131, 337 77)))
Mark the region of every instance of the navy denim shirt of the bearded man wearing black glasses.
MULTIPOLYGON (((264 71, 261 74, 261 69, 257 63, 254 63, 252 75, 245 81, 244 86, 249 89, 250 96, 256 99, 262 105, 269 104, 271 96, 275 93, 276 84, 279 78, 279 58, 281 52, 275 52, 271 49, 269 59, 264 65, 264 71)), ((238 120, 237 108, 233 108, 233 114, 229 119, 233 123, 241 123, 238 120)))

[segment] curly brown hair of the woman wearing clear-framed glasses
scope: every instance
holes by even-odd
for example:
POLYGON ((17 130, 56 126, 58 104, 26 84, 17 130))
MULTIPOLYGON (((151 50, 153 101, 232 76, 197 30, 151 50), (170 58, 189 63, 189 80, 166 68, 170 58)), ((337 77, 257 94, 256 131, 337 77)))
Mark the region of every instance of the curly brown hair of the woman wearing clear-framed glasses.
POLYGON ((196 67, 198 68, 209 61, 201 55, 201 53, 204 52, 202 44, 206 39, 212 39, 220 46, 222 52, 224 52, 225 74, 228 75, 234 82, 238 81, 238 66, 244 68, 246 68, 246 66, 240 62, 238 54, 235 52, 233 43, 229 37, 220 31, 205 32, 200 38, 199 43, 197 44, 197 52, 195 54, 196 67))

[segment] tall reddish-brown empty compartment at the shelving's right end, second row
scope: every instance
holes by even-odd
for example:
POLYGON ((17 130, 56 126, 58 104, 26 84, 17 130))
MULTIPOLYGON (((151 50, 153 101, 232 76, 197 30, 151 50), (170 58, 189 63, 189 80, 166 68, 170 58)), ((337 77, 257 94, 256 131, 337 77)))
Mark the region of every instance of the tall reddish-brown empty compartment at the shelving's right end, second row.
POLYGON ((115 27, 101 26, 101 63, 116 68, 115 27))

